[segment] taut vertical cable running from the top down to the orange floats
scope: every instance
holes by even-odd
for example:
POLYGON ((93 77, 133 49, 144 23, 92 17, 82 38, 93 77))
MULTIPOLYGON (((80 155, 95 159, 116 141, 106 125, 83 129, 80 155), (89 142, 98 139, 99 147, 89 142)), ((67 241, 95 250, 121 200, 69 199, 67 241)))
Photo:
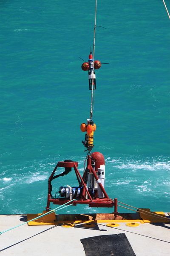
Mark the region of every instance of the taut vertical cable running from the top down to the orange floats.
POLYGON ((95 41, 96 41, 96 14, 97 14, 97 0, 96 0, 96 7, 95 7, 95 20, 94 20, 94 41, 93 41, 93 77, 92 77, 92 89, 91 89, 91 111, 90 111, 90 119, 93 116, 93 109, 94 109, 94 54, 95 54, 95 41))

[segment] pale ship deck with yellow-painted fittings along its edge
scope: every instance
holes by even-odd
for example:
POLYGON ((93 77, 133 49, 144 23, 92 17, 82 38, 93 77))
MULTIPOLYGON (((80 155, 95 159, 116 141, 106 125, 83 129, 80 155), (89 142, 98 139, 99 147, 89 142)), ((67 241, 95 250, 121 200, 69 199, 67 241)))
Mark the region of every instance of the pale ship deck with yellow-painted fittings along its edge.
MULTIPOLYGON (((166 213, 165 215, 168 217, 166 213)), ((136 217, 136 215, 134 215, 134 217, 136 217)), ((10 227, 14 227, 26 221, 27 215, 0 215, 0 231, 2 232, 3 230, 7 230, 10 227)), ((56 221, 53 225, 28 226, 28 224, 25 224, 1 234, 1 255, 90 255, 85 254, 80 239, 122 233, 126 235, 136 256, 169 256, 170 254, 170 222, 144 223, 138 218, 133 218, 133 220, 117 220, 116 222, 105 220, 88 222, 72 221, 72 223, 75 223, 73 225, 74 227, 70 224, 62 224, 61 222, 60 219, 60 221, 56 221), (135 224, 127 226, 127 223, 135 224), (108 227, 107 224, 113 224, 113 227, 108 227)), ((124 244, 122 244, 122 247, 124 247, 124 244)), ((93 251, 93 246, 91 251, 93 251)), ((122 254, 116 254, 116 252, 114 254, 102 254, 99 252, 97 254, 92 253, 91 255, 122 256, 122 254)))

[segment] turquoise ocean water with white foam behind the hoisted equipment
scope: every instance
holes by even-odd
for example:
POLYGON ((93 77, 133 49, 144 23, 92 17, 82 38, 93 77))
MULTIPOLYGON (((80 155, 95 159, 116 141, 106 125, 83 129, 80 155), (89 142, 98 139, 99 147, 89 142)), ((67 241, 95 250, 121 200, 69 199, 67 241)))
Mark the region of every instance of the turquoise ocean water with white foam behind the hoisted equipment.
MULTIPOLYGON (((170 7, 170 4, 169 6, 170 7)), ((58 161, 86 153, 95 1, 0 1, 0 214, 42 212, 58 161)), ((94 151, 111 198, 170 211, 170 20, 160 0, 98 0, 94 151)), ((74 173, 59 186, 76 185, 74 173)), ((55 190, 55 188, 54 188, 55 190)), ((111 212, 70 207, 67 212, 111 212)), ((124 209, 119 209, 123 212, 124 209)), ((63 209, 62 213, 65 212, 63 209)))

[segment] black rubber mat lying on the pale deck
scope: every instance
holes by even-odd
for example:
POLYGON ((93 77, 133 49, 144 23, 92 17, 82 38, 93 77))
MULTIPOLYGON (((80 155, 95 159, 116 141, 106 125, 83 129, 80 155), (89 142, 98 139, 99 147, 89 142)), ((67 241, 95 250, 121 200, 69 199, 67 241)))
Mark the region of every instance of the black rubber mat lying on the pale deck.
POLYGON ((124 233, 92 236, 80 241, 86 256, 136 256, 124 233))

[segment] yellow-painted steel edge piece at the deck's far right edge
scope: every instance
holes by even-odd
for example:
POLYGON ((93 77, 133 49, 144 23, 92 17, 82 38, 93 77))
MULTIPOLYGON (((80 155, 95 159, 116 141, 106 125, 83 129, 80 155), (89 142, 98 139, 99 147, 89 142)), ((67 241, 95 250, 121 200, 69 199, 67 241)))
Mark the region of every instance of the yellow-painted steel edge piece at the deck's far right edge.
MULTIPOLYGON (((150 213, 156 213, 158 216, 162 216, 162 217, 166 217, 166 215, 164 214, 164 212, 150 212, 150 209, 144 209, 141 208, 141 210, 147 211, 149 214, 150 213)), ((140 216, 143 219, 144 223, 167 223, 170 222, 164 218, 157 218, 155 215, 151 216, 151 215, 147 215, 147 213, 144 213, 142 211, 139 210, 140 216)))

